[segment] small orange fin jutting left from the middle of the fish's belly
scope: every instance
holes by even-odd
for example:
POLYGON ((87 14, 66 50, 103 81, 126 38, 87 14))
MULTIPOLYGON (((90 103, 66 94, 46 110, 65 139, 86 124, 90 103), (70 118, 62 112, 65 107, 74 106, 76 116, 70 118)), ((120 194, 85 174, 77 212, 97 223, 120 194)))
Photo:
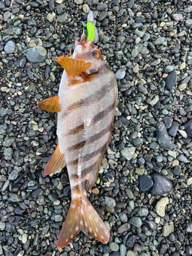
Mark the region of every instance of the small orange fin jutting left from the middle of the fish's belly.
POLYGON ((60 112, 59 97, 52 97, 38 102, 37 108, 48 112, 60 112))

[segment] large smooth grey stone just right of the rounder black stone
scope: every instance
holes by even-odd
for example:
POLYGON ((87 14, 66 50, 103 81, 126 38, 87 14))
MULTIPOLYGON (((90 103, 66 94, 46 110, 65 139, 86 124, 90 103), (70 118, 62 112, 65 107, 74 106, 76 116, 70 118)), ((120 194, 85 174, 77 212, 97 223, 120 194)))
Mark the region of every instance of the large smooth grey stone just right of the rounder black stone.
POLYGON ((168 194, 172 190, 172 183, 160 174, 153 175, 154 185, 151 188, 151 193, 154 196, 168 194))

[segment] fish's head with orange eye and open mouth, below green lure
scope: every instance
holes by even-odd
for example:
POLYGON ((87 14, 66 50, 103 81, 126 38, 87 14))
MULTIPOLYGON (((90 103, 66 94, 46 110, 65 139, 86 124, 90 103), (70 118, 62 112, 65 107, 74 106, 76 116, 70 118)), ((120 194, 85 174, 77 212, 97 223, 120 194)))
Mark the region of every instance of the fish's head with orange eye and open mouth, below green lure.
POLYGON ((99 68, 103 63, 101 51, 89 41, 85 34, 81 35, 80 41, 75 41, 75 50, 73 59, 84 60, 90 62, 91 66, 88 70, 84 71, 86 75, 93 75, 99 72, 99 68))

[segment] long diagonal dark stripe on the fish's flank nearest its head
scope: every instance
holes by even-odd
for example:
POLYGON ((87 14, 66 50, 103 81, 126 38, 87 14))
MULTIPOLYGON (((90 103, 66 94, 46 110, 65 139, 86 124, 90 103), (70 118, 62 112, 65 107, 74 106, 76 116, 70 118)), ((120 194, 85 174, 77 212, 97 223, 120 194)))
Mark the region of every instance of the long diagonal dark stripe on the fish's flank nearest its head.
POLYGON ((111 90, 116 86, 116 83, 113 83, 111 81, 111 88, 109 88, 109 84, 107 83, 105 86, 103 86, 100 90, 96 91, 94 94, 91 94, 87 98, 81 99, 79 101, 74 102, 69 108, 67 109, 67 114, 69 114, 68 111, 74 110, 76 108, 79 108, 81 105, 83 106, 89 106, 93 103, 93 101, 104 98, 107 93, 109 93, 109 89, 111 90))

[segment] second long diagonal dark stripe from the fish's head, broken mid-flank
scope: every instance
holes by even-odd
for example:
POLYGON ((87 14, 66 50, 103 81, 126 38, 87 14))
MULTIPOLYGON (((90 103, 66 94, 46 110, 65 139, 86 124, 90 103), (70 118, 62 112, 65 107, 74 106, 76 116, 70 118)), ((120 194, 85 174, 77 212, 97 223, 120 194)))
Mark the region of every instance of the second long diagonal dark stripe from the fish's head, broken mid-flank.
MULTIPOLYGON (((114 108, 116 105, 116 100, 114 101, 113 104, 111 104, 110 106, 108 106, 108 108, 106 110, 103 110, 101 112, 99 112, 92 120, 91 124, 94 125, 95 123, 99 122, 101 119, 103 119, 103 117, 107 116, 114 108)), ((84 128, 84 124, 82 123, 81 125, 77 126, 76 128, 70 130, 67 134, 68 135, 73 135, 73 134, 77 134, 78 132, 82 131, 84 128)))

